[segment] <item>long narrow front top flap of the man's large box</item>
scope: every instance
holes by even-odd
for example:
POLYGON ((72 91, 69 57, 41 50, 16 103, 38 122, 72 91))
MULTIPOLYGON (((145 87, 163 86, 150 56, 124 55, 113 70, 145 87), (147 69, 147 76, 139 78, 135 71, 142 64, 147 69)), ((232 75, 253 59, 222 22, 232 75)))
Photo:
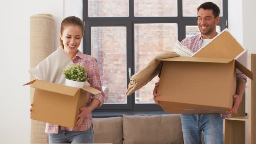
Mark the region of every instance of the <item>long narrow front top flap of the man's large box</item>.
POLYGON ((177 61, 177 62, 214 62, 214 63, 228 63, 233 59, 225 59, 225 58, 207 58, 207 57, 186 57, 179 56, 167 59, 159 59, 161 61, 177 61))

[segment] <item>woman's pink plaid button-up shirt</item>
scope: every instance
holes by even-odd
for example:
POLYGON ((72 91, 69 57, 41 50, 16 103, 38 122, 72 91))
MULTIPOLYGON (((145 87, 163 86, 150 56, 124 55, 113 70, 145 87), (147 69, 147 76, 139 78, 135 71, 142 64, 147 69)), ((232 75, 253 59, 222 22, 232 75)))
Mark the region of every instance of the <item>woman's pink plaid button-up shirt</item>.
MULTIPOLYGON (((79 62, 84 67, 87 68, 87 81, 90 83, 90 85, 93 88, 98 89, 99 91, 102 91, 102 84, 99 77, 99 71, 98 71, 98 64, 97 60, 90 56, 85 55, 82 52, 78 50, 76 56, 74 59, 72 59, 73 63, 75 65, 78 65, 79 62)), ((97 95, 92 95, 91 93, 87 94, 87 103, 86 105, 90 105, 92 98, 97 98, 100 101, 100 104, 98 107, 100 107, 104 103, 104 93, 99 93, 97 95)), ((89 129, 92 125, 92 112, 90 112, 87 116, 85 116, 83 123, 79 127, 75 128, 66 128, 61 126, 61 130, 68 130, 68 131, 85 131, 89 129)), ((46 129, 45 132, 49 134, 57 134, 59 131, 59 126, 54 124, 46 123, 46 129)))

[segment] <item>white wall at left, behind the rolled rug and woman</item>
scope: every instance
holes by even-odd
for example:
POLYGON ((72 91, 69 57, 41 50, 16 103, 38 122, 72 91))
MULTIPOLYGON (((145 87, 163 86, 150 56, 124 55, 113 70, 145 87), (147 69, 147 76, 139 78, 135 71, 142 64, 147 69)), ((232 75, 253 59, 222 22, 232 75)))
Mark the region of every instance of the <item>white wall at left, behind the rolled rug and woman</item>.
MULTIPOLYGON (((64 16, 82 18, 82 0, 0 1, 0 144, 30 144, 30 16, 53 14, 56 39, 64 16), (72 7, 67 6, 66 4, 72 7), (79 4, 80 3, 80 4, 79 4), (65 7, 65 13, 64 13, 65 7)), ((55 46, 59 46, 56 41, 55 46)))

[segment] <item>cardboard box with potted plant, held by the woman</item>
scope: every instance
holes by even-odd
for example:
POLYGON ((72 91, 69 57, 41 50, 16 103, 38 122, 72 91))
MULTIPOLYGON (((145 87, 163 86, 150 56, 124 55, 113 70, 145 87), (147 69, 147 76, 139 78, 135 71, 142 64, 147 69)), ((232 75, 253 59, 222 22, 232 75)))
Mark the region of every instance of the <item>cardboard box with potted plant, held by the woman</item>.
POLYGON ((68 128, 76 127, 76 116, 79 108, 86 105, 87 92, 101 93, 90 86, 75 88, 41 80, 25 85, 35 88, 30 118, 68 128))

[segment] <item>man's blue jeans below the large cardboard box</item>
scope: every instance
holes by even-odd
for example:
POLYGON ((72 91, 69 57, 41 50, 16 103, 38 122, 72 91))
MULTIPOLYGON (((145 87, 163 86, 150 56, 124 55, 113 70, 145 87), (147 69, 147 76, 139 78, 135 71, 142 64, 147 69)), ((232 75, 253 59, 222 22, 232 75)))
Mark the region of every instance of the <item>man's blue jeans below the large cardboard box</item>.
POLYGON ((220 114, 181 114, 184 144, 223 144, 223 118, 220 114))

